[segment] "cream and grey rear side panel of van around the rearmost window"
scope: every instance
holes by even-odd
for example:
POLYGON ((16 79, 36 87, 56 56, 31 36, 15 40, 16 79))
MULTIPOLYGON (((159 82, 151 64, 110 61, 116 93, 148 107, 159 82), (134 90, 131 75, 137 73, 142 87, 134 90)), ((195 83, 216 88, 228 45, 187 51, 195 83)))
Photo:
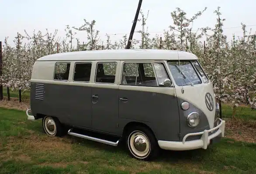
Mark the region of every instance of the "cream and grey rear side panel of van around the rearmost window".
MULTIPOLYGON (((70 61, 69 61, 70 62, 70 61)), ((64 124, 91 127, 91 87, 73 81, 74 62, 70 62, 69 80, 53 80, 56 61, 36 62, 31 77, 33 114, 58 117, 64 124), (80 85, 80 84, 83 85, 80 85), (36 99, 36 85, 43 87, 41 100, 36 99)), ((37 87, 37 88, 38 88, 37 87)), ((40 93, 40 89, 37 93, 40 93)))

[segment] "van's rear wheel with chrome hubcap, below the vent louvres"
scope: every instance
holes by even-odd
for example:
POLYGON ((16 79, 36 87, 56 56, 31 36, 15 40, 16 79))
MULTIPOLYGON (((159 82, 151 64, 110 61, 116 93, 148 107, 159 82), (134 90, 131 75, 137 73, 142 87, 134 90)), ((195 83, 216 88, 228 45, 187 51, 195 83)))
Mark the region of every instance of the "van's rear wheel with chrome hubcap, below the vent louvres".
POLYGON ((55 117, 45 116, 42 124, 45 133, 50 137, 61 137, 65 134, 62 124, 55 117))

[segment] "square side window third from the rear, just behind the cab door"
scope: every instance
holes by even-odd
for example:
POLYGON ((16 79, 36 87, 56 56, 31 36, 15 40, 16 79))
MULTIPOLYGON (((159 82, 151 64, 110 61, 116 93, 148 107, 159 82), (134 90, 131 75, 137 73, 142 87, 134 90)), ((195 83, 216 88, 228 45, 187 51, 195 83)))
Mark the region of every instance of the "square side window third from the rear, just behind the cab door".
POLYGON ((95 82, 114 84, 117 63, 98 63, 95 82))

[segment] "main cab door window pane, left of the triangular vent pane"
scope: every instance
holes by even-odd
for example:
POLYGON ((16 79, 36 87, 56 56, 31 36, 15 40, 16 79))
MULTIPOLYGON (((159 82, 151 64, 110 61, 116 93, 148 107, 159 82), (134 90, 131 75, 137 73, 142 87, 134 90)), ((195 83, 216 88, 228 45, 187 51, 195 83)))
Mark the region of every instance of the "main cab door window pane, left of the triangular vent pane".
POLYGON ((121 84, 157 87, 151 63, 125 63, 121 84))

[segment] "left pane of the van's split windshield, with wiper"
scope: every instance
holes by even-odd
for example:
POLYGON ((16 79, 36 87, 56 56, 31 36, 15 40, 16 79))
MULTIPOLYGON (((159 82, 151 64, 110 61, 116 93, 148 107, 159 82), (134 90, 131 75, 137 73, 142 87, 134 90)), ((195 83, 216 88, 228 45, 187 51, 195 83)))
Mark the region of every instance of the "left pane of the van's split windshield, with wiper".
POLYGON ((167 61, 167 64, 178 86, 191 85, 191 82, 193 84, 202 83, 190 61, 181 60, 180 65, 179 61, 167 61))

